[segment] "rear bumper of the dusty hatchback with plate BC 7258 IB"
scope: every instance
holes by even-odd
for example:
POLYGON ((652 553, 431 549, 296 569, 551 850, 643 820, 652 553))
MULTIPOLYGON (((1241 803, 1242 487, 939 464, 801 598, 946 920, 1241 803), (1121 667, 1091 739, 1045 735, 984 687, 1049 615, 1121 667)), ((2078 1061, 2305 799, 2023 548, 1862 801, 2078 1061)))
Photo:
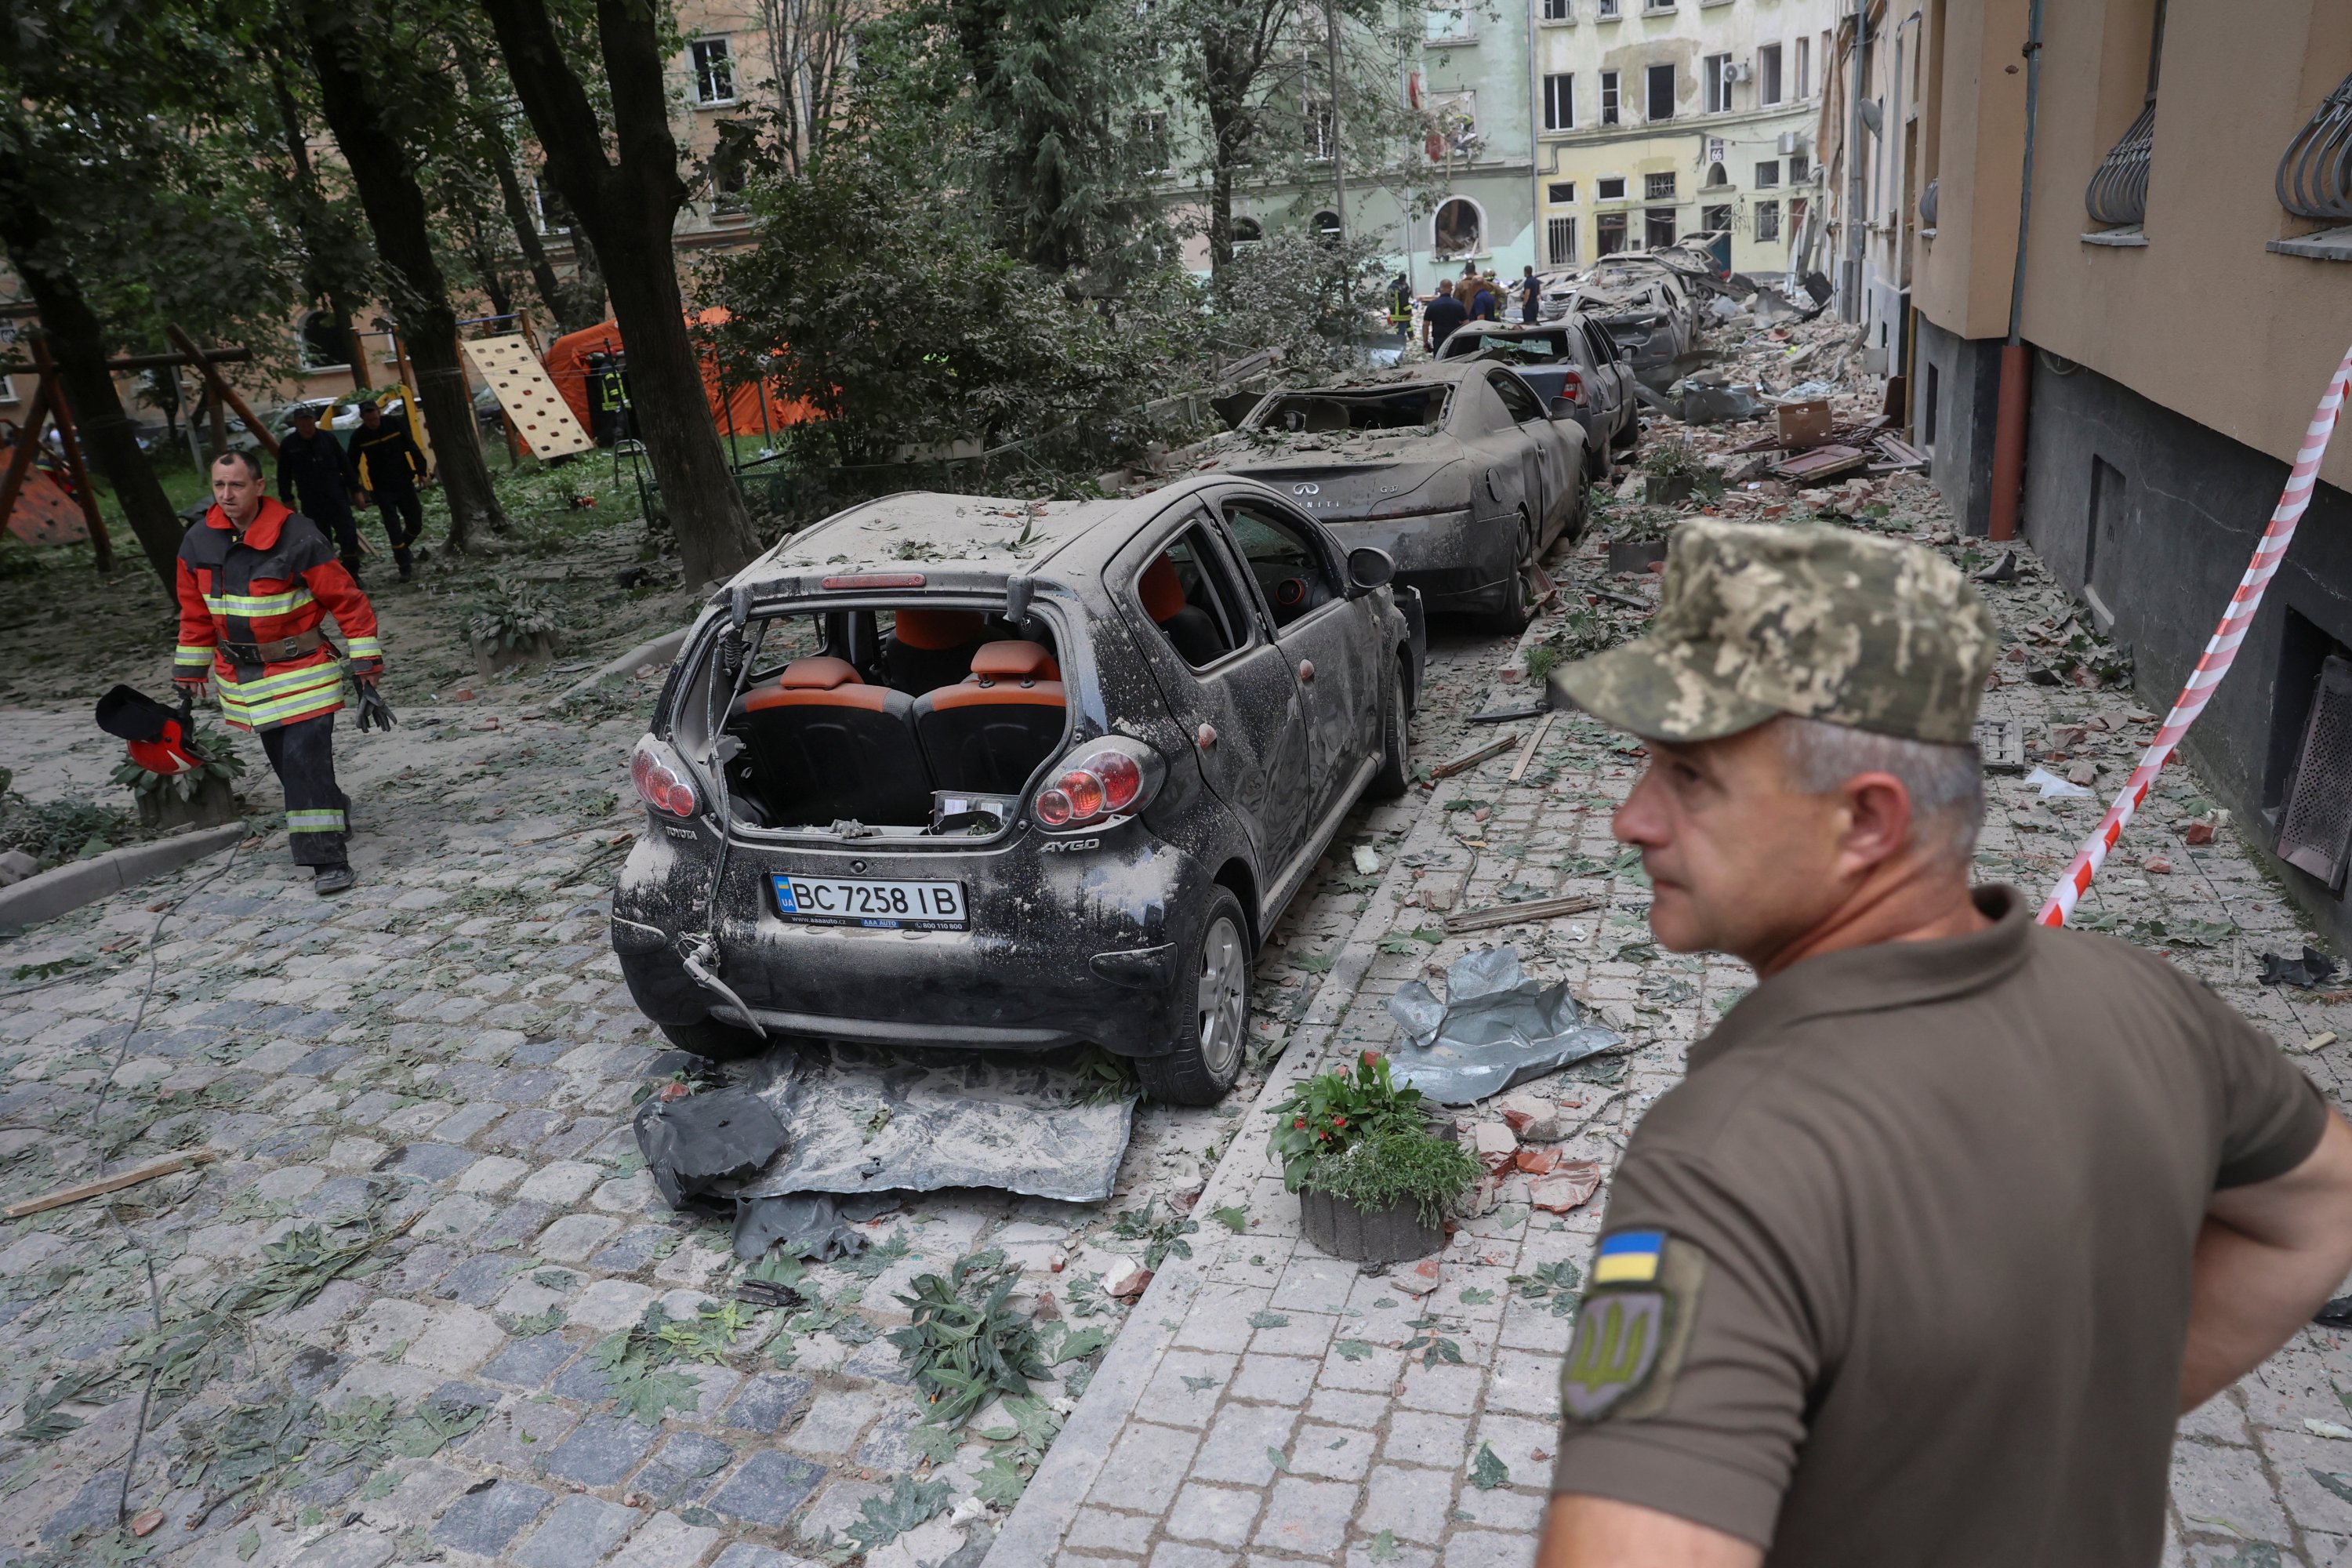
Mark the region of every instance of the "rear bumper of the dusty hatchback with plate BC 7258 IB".
MULTIPOLYGON (((614 891, 612 938, 637 1009, 654 1023, 729 1020, 677 952, 675 933, 701 929, 706 858, 659 875, 668 844, 637 856, 614 891), (633 875, 635 872, 635 875, 633 875), (682 898, 673 896, 673 889, 682 898)), ((769 1030, 821 1039, 978 1051, 1096 1044, 1120 1056, 1162 1056, 1176 1041, 1176 952, 1183 910, 1207 896, 1192 863, 1141 823, 1101 835, 1080 853, 1037 853, 1030 842, 990 853, 868 851, 870 877, 955 877, 969 931, 811 926, 779 914, 774 870, 821 875, 847 851, 736 844, 720 893, 720 978, 769 1030), (1117 886, 1117 898, 1105 896, 1117 886)), ((835 870, 835 875, 849 875, 835 870)))

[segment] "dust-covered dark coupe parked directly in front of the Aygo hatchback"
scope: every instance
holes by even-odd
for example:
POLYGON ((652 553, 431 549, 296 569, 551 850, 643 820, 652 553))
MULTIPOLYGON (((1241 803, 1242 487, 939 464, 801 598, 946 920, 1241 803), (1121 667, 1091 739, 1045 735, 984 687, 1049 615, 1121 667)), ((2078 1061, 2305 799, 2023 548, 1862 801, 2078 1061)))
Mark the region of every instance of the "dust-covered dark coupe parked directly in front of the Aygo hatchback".
POLYGON ((1291 496, 1348 545, 1378 545, 1430 609, 1508 630, 1531 571, 1585 522, 1585 430, 1515 371, 1437 360, 1268 393, 1209 461, 1291 496))

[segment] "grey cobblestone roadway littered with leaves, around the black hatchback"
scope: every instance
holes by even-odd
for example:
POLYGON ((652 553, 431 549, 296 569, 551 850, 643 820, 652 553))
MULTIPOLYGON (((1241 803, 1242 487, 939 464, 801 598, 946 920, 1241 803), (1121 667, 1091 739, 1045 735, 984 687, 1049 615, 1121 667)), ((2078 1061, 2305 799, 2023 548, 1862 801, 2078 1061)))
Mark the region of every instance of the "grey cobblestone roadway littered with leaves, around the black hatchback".
MULTIPOLYGON (((1430 712, 1489 658, 1442 635, 1430 712)), ((1087 1340, 1058 1333, 1117 1333, 1101 1286, 1152 1246, 1122 1215, 1183 1244, 1171 1201, 1237 1110, 1143 1107, 1108 1204, 931 1194, 811 1267, 807 1309, 736 1307, 727 1227, 663 1208, 628 1128, 691 1065, 607 943, 640 722, 612 712, 628 698, 555 710, 564 679, 440 705, 395 684, 400 731, 346 729, 346 898, 287 865, 240 738, 259 837, 0 940, 0 1197, 216 1157, 0 1225, 0 1563, 790 1568, 861 1540, 875 1566, 969 1563, 1098 1352, 934 1446, 882 1338, 896 1295, 1002 1248, 1021 1307, 1058 1291, 1047 1335, 1070 1354, 1087 1340), (894 1486, 913 1509, 875 1526, 894 1486)), ((28 792, 108 797, 115 748, 85 715, 0 712, 28 792)), ((1261 976, 1235 1105, 1376 882, 1350 846, 1414 809, 1359 811, 1284 919, 1298 961, 1261 976)))

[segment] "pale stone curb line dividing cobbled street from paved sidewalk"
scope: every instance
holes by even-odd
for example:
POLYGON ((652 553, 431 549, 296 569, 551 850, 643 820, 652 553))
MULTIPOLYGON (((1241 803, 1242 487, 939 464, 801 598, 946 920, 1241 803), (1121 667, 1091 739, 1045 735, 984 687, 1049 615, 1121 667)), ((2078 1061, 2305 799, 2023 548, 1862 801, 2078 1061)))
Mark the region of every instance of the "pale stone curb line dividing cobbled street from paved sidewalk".
MULTIPOLYGON (((1534 630, 1529 628, 1526 635, 1531 637, 1534 630)), ((1526 637, 1512 646, 1508 665, 1519 663, 1524 642, 1526 637)), ((1494 689, 1489 686, 1484 701, 1491 701, 1491 696, 1494 689)), ((1192 1213, 1204 1215, 1247 1194, 1256 1180, 1254 1166, 1261 1157, 1258 1143, 1263 1143, 1261 1121, 1291 1091, 1291 1084, 1310 1077, 1322 1065, 1324 1048, 1355 1004, 1357 987, 1364 980, 1364 971, 1371 969, 1381 938, 1395 924, 1397 910, 1404 907, 1402 889, 1411 884, 1411 867, 1404 863, 1406 856, 1435 846, 1444 827, 1444 802, 1461 792, 1470 778, 1475 778, 1475 771, 1437 780, 1437 788, 1430 790, 1421 806, 1421 818, 1388 853, 1388 875, 1364 905, 1364 914, 1357 917, 1355 931, 1348 933, 1322 985, 1315 987, 1315 999, 1298 1018, 1282 1060, 1265 1077, 1256 1100, 1251 1100, 1242 1117, 1242 1126, 1225 1143, 1225 1152, 1218 1157, 1216 1171, 1209 1173, 1209 1182, 1192 1204, 1192 1213), (1258 1138, 1258 1143, 1251 1143, 1251 1138, 1258 1138)), ((1120 1328, 1101 1368, 1096 1368, 1094 1380, 1087 1385, 1084 1399, 1077 1401, 1077 1410, 1063 1422, 1028 1490, 1014 1505, 1011 1519, 997 1533, 997 1544, 983 1568, 1037 1568, 1037 1563, 1054 1559, 1063 1533, 1077 1519, 1080 1505, 1094 1490, 1096 1476, 1110 1460, 1112 1441, 1117 1441, 1120 1429, 1134 1418, 1136 1406, 1143 1401, 1143 1389, 1160 1368, 1160 1359, 1174 1345, 1176 1326, 1183 1321, 1183 1312, 1192 1298, 1200 1295, 1207 1267, 1209 1258, 1207 1248, 1202 1248, 1192 1258, 1169 1258, 1167 1267, 1152 1274, 1152 1284, 1145 1286, 1143 1298, 1127 1314, 1124 1328, 1120 1328)))

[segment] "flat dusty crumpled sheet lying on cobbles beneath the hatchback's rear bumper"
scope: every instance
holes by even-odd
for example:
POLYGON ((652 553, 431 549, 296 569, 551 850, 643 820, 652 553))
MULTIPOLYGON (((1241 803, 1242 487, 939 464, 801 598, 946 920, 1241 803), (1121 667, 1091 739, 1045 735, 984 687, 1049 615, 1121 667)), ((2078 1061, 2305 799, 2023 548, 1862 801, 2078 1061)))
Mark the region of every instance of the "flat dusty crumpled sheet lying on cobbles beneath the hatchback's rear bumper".
POLYGON ((769 1051, 746 1084, 786 1145, 741 1199, 1000 1187, 1098 1204, 1134 1131, 1131 1098, 1068 1056, 891 1053, 835 1041, 769 1051))

